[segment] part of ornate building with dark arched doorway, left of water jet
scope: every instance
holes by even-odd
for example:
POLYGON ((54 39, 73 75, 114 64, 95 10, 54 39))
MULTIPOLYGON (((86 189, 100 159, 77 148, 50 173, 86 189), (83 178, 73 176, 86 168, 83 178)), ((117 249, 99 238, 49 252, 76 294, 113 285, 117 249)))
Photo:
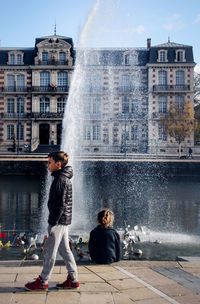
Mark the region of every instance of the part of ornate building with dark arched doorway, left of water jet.
POLYGON ((34 48, 0 49, 0 151, 59 145, 74 67, 71 38, 37 38, 34 48))

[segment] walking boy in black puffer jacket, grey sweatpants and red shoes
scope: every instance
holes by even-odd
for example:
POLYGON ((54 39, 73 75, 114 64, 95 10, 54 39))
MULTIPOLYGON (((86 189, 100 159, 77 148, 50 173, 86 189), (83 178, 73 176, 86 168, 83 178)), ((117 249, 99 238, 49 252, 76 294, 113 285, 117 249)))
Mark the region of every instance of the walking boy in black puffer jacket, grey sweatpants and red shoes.
POLYGON ((62 256, 68 276, 66 281, 57 284, 57 288, 77 288, 77 266, 69 247, 68 225, 72 219, 72 167, 67 166, 68 155, 57 151, 48 155, 48 169, 54 180, 51 184, 48 200, 49 236, 44 245, 43 270, 38 278, 25 285, 30 291, 48 290, 48 280, 51 276, 57 251, 62 256))

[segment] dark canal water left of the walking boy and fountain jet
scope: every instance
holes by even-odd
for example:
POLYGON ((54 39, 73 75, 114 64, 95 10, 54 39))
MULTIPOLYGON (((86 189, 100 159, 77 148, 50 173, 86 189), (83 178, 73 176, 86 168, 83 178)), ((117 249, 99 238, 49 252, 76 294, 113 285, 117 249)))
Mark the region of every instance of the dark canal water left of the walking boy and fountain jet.
POLYGON ((41 185, 38 177, 0 177, 1 230, 37 231, 41 185))

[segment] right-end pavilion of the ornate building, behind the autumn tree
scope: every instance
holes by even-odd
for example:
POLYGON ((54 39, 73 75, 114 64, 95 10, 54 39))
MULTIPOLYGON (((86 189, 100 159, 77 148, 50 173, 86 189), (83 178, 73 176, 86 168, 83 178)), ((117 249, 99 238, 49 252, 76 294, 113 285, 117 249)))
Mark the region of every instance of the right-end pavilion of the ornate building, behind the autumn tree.
MULTIPOLYGON (((194 59, 192 47, 173 43, 153 46, 149 49, 148 61, 148 147, 149 153, 177 153, 177 142, 166 134, 159 122, 160 115, 166 114, 171 105, 193 105, 194 59)), ((194 132, 185 138, 182 149, 194 146, 194 132)))

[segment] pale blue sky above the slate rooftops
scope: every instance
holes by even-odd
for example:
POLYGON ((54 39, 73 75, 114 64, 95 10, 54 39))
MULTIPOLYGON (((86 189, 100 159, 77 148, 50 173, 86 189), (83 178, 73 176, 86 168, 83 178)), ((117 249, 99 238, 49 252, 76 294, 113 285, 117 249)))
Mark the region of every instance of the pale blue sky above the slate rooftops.
POLYGON ((170 41, 192 45, 200 64, 200 2, 197 0, 10 0, 1 2, 3 47, 33 47, 36 37, 73 38, 75 46, 88 19, 88 46, 145 47, 170 41))

